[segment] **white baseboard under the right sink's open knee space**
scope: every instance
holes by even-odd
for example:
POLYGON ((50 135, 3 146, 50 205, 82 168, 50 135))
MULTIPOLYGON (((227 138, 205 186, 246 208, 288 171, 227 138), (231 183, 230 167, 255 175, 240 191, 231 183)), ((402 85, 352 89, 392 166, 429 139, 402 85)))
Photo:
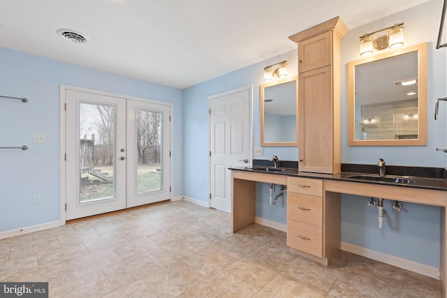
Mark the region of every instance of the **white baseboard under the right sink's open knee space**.
POLYGON ((409 271, 414 271, 418 274, 423 274, 432 278, 439 279, 441 272, 439 268, 423 265, 410 260, 405 260, 402 258, 397 258, 394 255, 387 255, 386 253, 381 253, 380 251, 373 251, 368 248, 361 246, 356 246, 346 242, 342 242, 340 249, 342 251, 347 251, 348 253, 355 253, 356 255, 362 255, 363 257, 383 262, 389 265, 400 267, 409 271))

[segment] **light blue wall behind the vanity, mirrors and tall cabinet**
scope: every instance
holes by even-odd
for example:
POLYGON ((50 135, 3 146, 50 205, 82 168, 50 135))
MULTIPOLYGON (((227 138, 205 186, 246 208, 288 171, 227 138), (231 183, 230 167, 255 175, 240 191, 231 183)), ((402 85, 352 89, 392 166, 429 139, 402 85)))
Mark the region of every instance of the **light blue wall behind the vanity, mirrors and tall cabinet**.
MULTIPOLYGON (((388 165, 414 165, 444 167, 446 157, 435 150, 444 147, 446 140, 446 109, 442 108, 439 120, 434 121, 434 100, 446 95, 446 51, 434 50, 440 17, 440 0, 404 10, 395 15, 350 29, 342 39, 342 163, 376 164, 384 158, 388 165), (428 144, 421 147, 349 147, 347 123, 347 64, 360 59, 359 40, 365 32, 388 27, 397 22, 405 23, 405 45, 428 42, 428 144)), ((343 16, 342 16, 343 17, 343 16)), ((292 32, 295 33, 295 32, 292 32)), ((284 36, 284 38, 287 38, 284 36)), ((296 64, 296 50, 242 68, 184 90, 184 195, 208 202, 207 184, 200 187, 199 181, 208 181, 208 117, 207 97, 237 87, 253 84, 254 147, 260 147, 259 85, 263 84, 262 69, 265 65, 288 60, 288 70, 296 64), (193 140, 193 142, 189 142, 193 140)), ((293 75, 293 73, 291 73, 293 75)), ((277 155, 280 160, 296 161, 298 149, 288 147, 265 147, 268 159, 277 155)), ((278 193, 278 190, 277 192, 278 193)), ((256 216, 286 224, 286 202, 270 206, 268 184, 256 186, 256 216)), ((403 203, 400 213, 385 202, 387 217, 383 230, 377 228, 377 209, 367 207, 367 198, 342 195, 342 241, 374 251, 395 255, 432 267, 439 267, 439 208, 403 203), (423 246, 423 248, 421 248, 423 246), (421 253, 421 252, 424 253, 421 253)))

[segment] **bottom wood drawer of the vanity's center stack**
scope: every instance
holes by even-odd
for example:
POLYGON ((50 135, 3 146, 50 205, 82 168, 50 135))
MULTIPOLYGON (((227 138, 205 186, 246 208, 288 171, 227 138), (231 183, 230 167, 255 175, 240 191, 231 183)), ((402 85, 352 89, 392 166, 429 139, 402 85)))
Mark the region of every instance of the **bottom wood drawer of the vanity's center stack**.
POLYGON ((323 258, 323 229, 288 219, 287 245, 323 258))

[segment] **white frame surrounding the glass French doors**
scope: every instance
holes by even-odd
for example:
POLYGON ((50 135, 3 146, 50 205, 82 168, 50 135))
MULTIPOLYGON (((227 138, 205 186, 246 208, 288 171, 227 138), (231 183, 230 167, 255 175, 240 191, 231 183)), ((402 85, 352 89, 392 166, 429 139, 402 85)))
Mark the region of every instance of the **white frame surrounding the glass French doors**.
POLYGON ((169 151, 171 153, 170 156, 170 187, 171 187, 171 191, 170 191, 170 200, 173 200, 173 193, 174 193, 174 154, 173 154, 173 148, 174 148, 174 117, 173 117, 173 103, 167 103, 164 101, 159 101, 159 100, 150 100, 150 99, 146 99, 146 98, 138 98, 135 96, 126 96, 123 94, 115 94, 112 92, 107 92, 107 91, 100 91, 100 90, 95 90, 95 89, 87 89, 87 88, 83 88, 83 87, 75 87, 75 86, 71 86, 71 85, 66 85, 66 84, 60 84, 60 94, 59 94, 59 125, 60 125, 60 130, 59 130, 59 147, 60 147, 60 158, 59 158, 59 163, 60 163, 60 212, 61 212, 61 219, 60 219, 60 225, 65 225, 66 224, 66 161, 65 161, 65 154, 66 154, 66 112, 65 112, 65 105, 66 105, 66 90, 74 90, 74 91, 80 91, 80 92, 88 92, 88 93, 93 93, 93 94, 99 94, 99 95, 104 95, 104 96, 112 96, 112 97, 120 97, 120 98, 126 98, 126 99, 130 99, 130 100, 138 100, 138 101, 143 101, 146 103, 154 103, 157 105, 168 105, 170 107, 170 148, 169 151))

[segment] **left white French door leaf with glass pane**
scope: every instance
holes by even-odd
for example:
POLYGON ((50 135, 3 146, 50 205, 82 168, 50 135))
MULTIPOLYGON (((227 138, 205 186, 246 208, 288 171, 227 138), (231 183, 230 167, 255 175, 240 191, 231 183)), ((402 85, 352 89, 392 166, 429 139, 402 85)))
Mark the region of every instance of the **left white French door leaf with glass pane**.
POLYGON ((126 100, 66 90, 66 219, 126 208, 126 100))

